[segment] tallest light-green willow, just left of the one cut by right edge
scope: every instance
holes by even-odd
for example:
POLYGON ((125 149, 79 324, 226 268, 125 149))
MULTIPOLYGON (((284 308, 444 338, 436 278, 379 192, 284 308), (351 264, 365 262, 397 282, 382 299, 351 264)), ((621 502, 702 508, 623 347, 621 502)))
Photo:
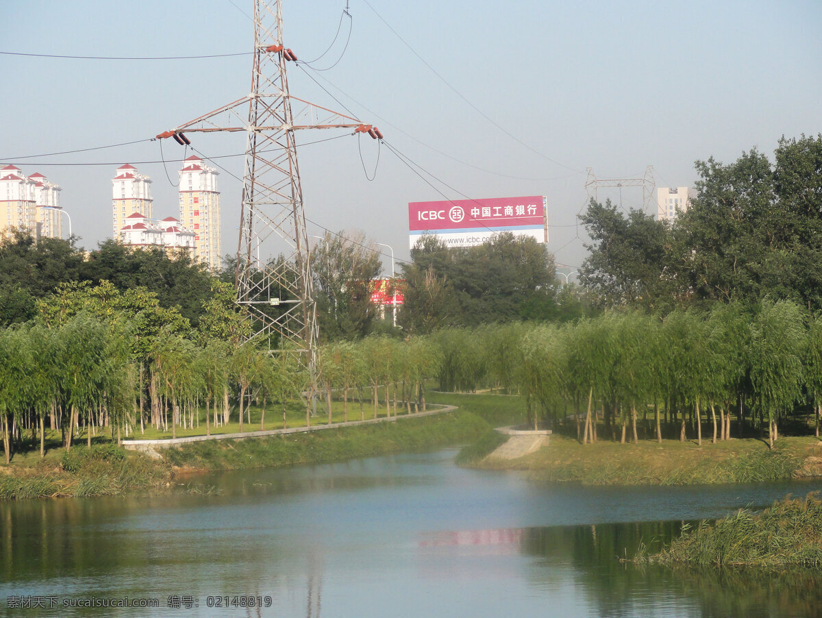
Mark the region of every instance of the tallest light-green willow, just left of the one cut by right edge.
POLYGON ((750 329, 750 380, 762 422, 768 422, 768 444, 778 438, 777 422, 801 396, 801 309, 790 301, 762 302, 750 329))

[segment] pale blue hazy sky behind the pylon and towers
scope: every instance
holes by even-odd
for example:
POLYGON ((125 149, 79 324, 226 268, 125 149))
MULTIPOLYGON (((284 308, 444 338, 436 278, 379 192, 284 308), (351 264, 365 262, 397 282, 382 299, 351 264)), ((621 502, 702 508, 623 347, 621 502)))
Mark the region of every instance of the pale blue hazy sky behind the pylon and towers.
MULTIPOLYGON (((587 253, 577 215, 588 168, 597 178, 639 178, 651 165, 657 187, 692 186, 696 160, 730 163, 751 148, 772 156, 780 137, 822 131, 817 0, 349 0, 350 19, 345 7, 284 0, 286 47, 309 61, 330 46, 311 65, 289 64, 291 95, 376 125, 428 182, 371 139, 300 131, 308 233, 362 231, 393 247, 398 262, 409 258, 409 202, 541 195, 548 249, 572 272, 587 253)), ((86 249, 112 235, 121 164, 152 179, 156 218, 178 217, 173 185, 192 153, 149 140, 249 93, 252 0, 0 8, 0 164, 58 183, 86 249)), ((190 137, 202 154, 223 157, 223 253, 233 253, 245 137, 190 137)), ((600 189, 606 197, 642 207, 641 188, 600 189)), ((390 274, 387 256, 384 265, 390 274)))

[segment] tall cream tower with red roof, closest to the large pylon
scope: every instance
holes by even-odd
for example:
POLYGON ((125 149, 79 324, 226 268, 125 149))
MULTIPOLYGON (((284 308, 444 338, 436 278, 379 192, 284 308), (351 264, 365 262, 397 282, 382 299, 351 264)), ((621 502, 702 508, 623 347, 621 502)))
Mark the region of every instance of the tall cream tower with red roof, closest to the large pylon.
POLYGON ((210 270, 218 270, 221 247, 217 170, 192 155, 183 161, 179 187, 180 221, 195 234, 194 257, 210 270))

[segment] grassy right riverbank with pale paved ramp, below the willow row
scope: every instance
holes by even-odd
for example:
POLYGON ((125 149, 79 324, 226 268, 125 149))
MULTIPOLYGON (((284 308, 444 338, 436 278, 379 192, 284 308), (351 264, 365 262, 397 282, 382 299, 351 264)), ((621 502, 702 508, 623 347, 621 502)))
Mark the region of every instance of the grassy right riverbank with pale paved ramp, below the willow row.
POLYGON ((822 476, 822 442, 813 437, 781 437, 774 450, 763 440, 735 439, 717 444, 663 440, 580 445, 552 436, 549 445, 520 459, 492 456, 497 440, 473 454, 478 468, 524 470, 534 478, 583 485, 698 485, 764 482, 822 476), (482 456, 480 456, 482 455, 482 456))

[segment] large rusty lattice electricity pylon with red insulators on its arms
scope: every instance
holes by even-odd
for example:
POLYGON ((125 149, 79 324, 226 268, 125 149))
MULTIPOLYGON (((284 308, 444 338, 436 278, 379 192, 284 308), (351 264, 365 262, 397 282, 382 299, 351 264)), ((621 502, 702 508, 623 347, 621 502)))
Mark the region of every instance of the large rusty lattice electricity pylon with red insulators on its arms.
MULTIPOLYGON (((256 333, 289 342, 316 377, 317 322, 295 131, 353 128, 381 139, 379 129, 356 118, 289 94, 286 66, 298 62, 283 43, 281 0, 254 2, 251 94, 160 133, 188 144, 186 133, 246 131, 240 234, 235 284, 237 302, 256 319, 256 333), (292 104, 297 108, 293 113, 292 104), (242 110, 247 106, 247 122, 242 110), (239 126, 231 127, 234 118, 239 126), (272 236, 284 241, 284 259, 263 263, 259 251, 272 236)), ((274 346, 272 346, 274 347, 274 346)))

